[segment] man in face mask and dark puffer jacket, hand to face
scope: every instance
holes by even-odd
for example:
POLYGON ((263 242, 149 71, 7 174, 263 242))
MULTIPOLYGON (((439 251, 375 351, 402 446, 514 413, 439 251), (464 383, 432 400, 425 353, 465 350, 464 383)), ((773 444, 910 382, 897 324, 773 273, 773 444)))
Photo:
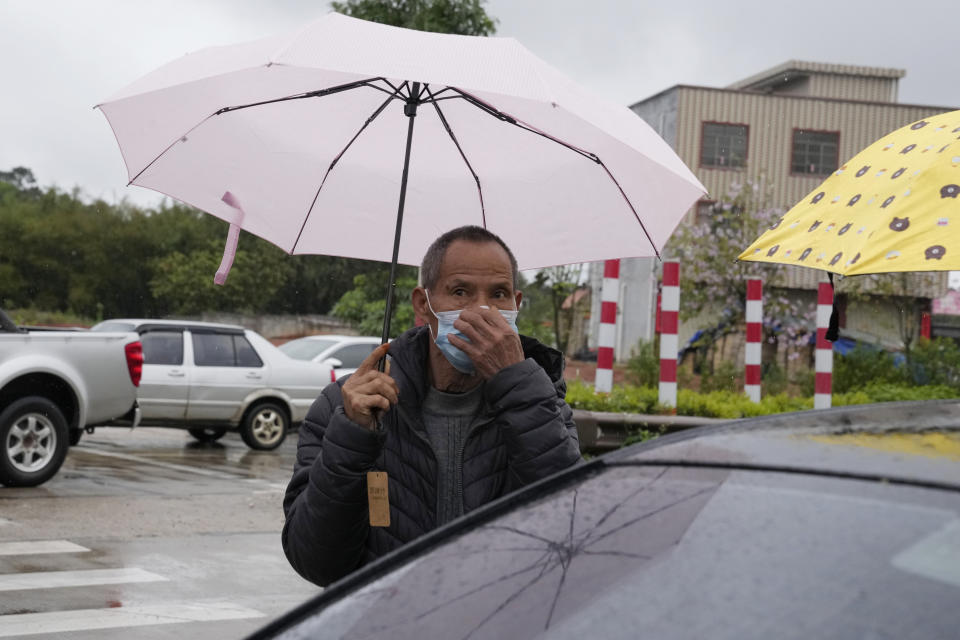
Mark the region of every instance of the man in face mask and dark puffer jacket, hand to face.
POLYGON ((581 459, 562 354, 513 324, 523 295, 503 241, 449 231, 420 279, 413 307, 427 326, 328 385, 300 428, 283 548, 316 584, 581 459), (387 353, 389 374, 377 370, 387 353), (369 471, 387 474, 388 527, 370 525, 369 471))

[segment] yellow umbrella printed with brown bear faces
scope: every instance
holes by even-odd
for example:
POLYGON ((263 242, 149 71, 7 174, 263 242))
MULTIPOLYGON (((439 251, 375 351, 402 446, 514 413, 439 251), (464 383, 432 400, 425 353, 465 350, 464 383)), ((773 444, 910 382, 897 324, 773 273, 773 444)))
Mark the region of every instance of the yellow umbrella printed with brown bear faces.
POLYGON ((960 111, 861 151, 740 259, 841 275, 960 270, 960 111))

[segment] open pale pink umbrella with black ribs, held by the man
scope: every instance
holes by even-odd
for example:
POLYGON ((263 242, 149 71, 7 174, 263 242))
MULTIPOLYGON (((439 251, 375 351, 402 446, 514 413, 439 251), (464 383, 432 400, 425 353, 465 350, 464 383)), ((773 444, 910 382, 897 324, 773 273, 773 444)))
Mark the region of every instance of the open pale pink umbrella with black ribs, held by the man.
POLYGON ((392 251, 388 290, 397 263, 466 224, 521 269, 659 255, 705 191, 641 118, 511 38, 336 13, 186 55, 98 107, 130 184, 226 220, 234 241, 243 228, 291 254, 392 251))

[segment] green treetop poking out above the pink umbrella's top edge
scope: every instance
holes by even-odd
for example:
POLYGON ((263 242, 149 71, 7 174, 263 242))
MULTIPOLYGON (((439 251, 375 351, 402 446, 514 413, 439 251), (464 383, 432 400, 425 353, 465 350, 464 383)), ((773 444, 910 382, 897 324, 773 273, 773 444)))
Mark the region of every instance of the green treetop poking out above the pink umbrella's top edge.
POLYGON ((485 0, 346 0, 331 2, 334 11, 354 18, 435 33, 490 36, 496 20, 485 0))

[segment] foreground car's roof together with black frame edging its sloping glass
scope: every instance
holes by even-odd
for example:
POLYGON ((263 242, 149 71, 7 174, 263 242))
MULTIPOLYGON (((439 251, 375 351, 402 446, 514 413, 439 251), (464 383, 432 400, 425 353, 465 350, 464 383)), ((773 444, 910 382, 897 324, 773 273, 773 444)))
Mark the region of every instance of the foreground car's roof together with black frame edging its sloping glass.
MULTIPOLYGON (((523 511, 541 498, 579 486, 587 478, 602 478, 597 475, 601 472, 686 467, 690 473, 716 474, 743 469, 760 472, 754 474, 760 485, 773 477, 849 479, 866 481, 878 488, 947 490, 954 498, 949 504, 956 504, 955 496, 960 492, 957 460, 960 400, 882 403, 781 414, 660 436, 561 471, 428 532, 330 585, 251 638, 274 638, 391 570, 413 567, 431 550, 460 534, 476 531, 477 525, 523 511), (942 440, 938 441, 939 438, 942 440)), ((803 491, 795 493, 808 495, 803 491)), ((913 499, 919 497, 910 495, 913 499)), ((401 574, 397 571, 393 575, 401 574)), ((309 636, 294 632, 291 637, 309 636)))

